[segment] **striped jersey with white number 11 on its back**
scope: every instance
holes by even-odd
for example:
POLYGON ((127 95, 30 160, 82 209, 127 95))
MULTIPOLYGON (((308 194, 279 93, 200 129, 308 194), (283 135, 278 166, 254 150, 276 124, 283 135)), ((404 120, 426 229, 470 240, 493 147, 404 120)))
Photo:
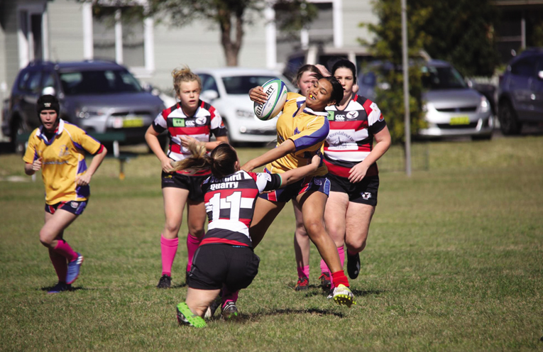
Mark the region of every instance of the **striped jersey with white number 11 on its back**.
POLYGON ((249 227, 256 198, 258 194, 280 186, 279 174, 240 170, 220 179, 208 177, 202 184, 202 192, 209 224, 200 246, 226 243, 251 247, 249 227))

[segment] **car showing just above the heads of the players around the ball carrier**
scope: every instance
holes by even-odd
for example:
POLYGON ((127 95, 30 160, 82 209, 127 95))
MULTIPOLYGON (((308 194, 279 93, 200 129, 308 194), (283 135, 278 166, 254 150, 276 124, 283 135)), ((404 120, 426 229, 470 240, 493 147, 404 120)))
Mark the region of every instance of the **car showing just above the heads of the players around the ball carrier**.
POLYGON ((287 57, 283 75, 292 81, 298 69, 303 65, 319 64, 331 70, 334 63, 341 59, 350 60, 356 67, 362 67, 364 62, 373 60, 373 56, 363 46, 334 48, 322 45, 310 45, 309 48, 297 50, 287 57))

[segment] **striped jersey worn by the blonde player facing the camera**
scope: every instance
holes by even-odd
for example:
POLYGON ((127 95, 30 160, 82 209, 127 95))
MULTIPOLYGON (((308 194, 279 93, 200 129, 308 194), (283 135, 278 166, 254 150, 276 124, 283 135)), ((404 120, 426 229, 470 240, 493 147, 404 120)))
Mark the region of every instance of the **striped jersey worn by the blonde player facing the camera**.
MULTIPOLYGON (((219 111, 200 100, 199 106, 193 116, 187 116, 181 109, 181 103, 165 109, 156 116, 153 122, 153 128, 157 133, 162 133, 168 129, 170 134, 170 148, 168 157, 178 161, 190 158, 192 155, 188 148, 181 145, 181 136, 191 136, 200 142, 209 142, 211 134, 215 137, 226 136, 226 127, 222 122, 219 111)), ((177 171, 181 174, 187 174, 187 171, 177 171)), ((194 174, 195 176, 209 175, 209 170, 202 170, 194 174)))

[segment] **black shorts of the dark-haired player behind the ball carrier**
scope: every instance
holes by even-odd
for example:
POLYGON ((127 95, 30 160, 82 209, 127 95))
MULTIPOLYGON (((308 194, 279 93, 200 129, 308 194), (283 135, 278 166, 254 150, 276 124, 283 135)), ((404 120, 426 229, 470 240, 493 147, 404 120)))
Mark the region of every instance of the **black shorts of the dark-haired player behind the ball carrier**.
POLYGON ((351 183, 346 177, 327 175, 330 180, 331 192, 342 192, 349 195, 349 202, 377 205, 377 191, 379 189, 379 176, 364 177, 361 182, 351 183))

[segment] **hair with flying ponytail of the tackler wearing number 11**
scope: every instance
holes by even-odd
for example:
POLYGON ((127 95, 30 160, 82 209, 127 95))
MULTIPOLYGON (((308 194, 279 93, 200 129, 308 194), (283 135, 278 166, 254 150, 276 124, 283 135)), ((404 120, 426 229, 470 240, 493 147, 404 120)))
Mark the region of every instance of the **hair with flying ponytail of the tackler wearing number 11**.
POLYGON ((235 164, 238 161, 238 154, 228 143, 217 145, 211 155, 207 155, 205 144, 192 140, 189 143, 189 150, 192 153, 190 158, 172 163, 175 171, 187 169, 199 171, 210 168, 216 178, 222 178, 236 172, 235 164))

